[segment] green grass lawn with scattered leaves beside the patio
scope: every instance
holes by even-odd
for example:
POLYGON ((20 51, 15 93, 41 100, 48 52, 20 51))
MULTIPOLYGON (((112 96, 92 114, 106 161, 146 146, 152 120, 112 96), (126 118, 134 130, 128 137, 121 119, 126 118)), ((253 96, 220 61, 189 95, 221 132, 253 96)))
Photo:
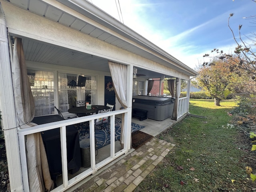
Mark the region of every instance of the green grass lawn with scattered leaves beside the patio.
MULTIPOLYGON (((134 191, 218 192, 256 190, 246 174, 255 164, 249 136, 232 125, 228 112, 234 101, 190 99, 190 114, 158 138, 176 144, 174 149, 134 191)), ((256 170, 253 170, 255 174, 256 170)))

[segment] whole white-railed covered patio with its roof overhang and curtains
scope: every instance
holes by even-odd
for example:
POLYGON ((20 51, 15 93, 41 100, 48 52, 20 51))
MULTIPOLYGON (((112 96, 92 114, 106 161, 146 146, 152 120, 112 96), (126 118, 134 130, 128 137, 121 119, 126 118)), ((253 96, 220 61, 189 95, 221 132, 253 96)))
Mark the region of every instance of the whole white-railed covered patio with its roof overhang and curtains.
POLYGON ((156 136, 188 113, 189 91, 180 98, 180 82, 185 80, 190 90, 190 77, 197 73, 90 2, 0 0, 0 19, 0 89, 4 90, 0 108, 11 190, 68 190, 132 150, 132 122, 145 126, 142 132, 156 136), (80 76, 86 78, 85 86, 77 86, 80 76), (175 98, 174 114, 162 121, 132 118, 132 97, 149 95, 153 79, 159 81, 158 97, 162 97, 161 82, 166 78, 175 86, 175 92, 174 88, 170 91, 175 98), (68 110, 79 100, 112 104, 114 110, 74 118, 76 114, 68 110), (32 123, 34 117, 57 115, 54 106, 62 120, 32 123), (105 116, 110 119, 108 155, 96 161, 91 147, 90 167, 69 177, 70 126, 88 122, 90 146, 95 146, 95 120, 105 116), (122 119, 120 143, 114 139, 116 117, 122 119), (41 135, 51 130, 59 130, 59 186, 53 186, 50 175, 41 169, 47 164, 42 158, 45 143, 41 135))

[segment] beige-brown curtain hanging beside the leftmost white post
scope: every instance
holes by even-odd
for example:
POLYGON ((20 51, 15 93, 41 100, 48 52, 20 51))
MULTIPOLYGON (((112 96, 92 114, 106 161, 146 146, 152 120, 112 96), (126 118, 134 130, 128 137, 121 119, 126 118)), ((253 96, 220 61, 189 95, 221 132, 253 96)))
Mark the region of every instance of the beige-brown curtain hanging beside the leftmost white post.
MULTIPOLYGON (((20 128, 34 126, 36 124, 29 123, 34 118, 35 104, 27 76, 22 39, 20 38, 15 38, 14 42, 12 73, 17 124, 20 128)), ((26 150, 30 191, 50 191, 54 185, 50 179, 48 162, 40 133, 26 137, 26 150)))

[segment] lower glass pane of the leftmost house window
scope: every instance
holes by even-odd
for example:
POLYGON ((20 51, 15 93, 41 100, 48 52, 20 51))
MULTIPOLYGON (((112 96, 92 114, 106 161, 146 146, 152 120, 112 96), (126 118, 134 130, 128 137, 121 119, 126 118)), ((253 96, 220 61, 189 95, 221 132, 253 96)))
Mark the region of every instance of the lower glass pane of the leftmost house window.
POLYGON ((32 89, 35 101, 35 116, 54 113, 54 91, 50 89, 32 89))

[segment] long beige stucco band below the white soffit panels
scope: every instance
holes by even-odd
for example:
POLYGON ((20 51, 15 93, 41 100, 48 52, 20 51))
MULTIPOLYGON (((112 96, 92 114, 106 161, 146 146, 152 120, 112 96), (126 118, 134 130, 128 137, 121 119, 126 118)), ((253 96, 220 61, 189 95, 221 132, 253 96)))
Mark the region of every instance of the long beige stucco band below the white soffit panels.
POLYGON ((70 27, 28 12, 22 8, 1 1, 4 8, 6 23, 10 34, 22 36, 66 47, 72 50, 93 54, 111 61, 127 65, 135 65, 146 70, 154 70, 162 74, 168 74, 182 79, 189 76, 176 70, 162 66, 156 62, 122 50, 116 46, 83 34, 70 27), (47 26, 47 27, 46 27, 47 26))

